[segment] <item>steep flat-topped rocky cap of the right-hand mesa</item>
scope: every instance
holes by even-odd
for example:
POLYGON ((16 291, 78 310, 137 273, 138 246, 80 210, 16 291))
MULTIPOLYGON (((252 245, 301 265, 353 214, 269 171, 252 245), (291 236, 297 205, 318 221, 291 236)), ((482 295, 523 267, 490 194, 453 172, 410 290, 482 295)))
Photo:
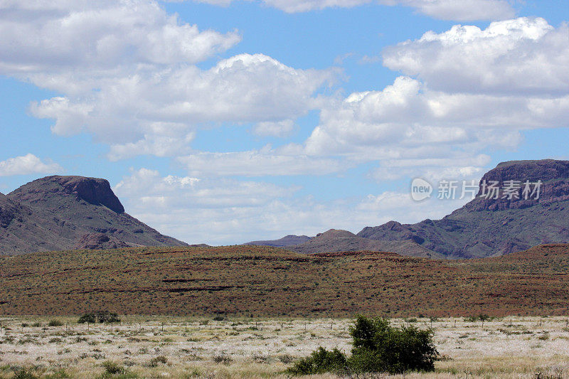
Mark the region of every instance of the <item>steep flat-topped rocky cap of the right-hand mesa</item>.
POLYGON ((521 209, 567 200, 569 161, 508 161, 484 174, 477 198, 453 213, 462 210, 521 209), (494 196, 491 186, 499 188, 497 196, 494 196), (508 187, 514 187, 514 196, 504 192, 508 187), (535 191, 536 187, 538 191, 535 191))

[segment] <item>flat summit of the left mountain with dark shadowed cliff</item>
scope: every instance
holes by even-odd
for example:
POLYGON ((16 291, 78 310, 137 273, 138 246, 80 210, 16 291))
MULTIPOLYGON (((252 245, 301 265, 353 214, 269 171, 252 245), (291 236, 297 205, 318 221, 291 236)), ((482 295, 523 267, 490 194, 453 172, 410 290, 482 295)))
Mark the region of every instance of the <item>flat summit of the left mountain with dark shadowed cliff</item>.
POLYGON ((84 176, 46 176, 37 179, 9 194, 20 203, 39 205, 49 202, 50 198, 75 196, 77 200, 92 205, 103 205, 115 213, 124 213, 124 207, 112 191, 109 182, 100 178, 84 176))

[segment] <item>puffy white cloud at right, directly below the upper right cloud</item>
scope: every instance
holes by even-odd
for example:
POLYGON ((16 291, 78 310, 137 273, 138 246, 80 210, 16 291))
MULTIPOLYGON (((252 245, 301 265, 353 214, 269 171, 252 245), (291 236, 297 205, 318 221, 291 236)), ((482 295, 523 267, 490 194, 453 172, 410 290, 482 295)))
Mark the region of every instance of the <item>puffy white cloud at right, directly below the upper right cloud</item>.
POLYGON ((370 161, 452 156, 457 149, 515 147, 519 130, 558 127, 568 116, 569 96, 449 94, 400 77, 382 91, 356 92, 322 110, 306 151, 370 161))

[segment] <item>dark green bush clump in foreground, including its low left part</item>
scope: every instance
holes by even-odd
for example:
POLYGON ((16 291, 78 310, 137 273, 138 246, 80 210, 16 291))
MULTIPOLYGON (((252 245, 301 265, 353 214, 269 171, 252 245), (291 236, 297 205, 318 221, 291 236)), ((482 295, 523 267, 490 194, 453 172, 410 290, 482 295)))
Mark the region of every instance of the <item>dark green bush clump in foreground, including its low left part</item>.
POLYGON ((351 356, 334 349, 319 348, 289 368, 292 375, 338 373, 405 373, 435 370, 439 353, 432 342, 432 331, 416 326, 390 326, 388 319, 356 316, 350 328, 351 356))

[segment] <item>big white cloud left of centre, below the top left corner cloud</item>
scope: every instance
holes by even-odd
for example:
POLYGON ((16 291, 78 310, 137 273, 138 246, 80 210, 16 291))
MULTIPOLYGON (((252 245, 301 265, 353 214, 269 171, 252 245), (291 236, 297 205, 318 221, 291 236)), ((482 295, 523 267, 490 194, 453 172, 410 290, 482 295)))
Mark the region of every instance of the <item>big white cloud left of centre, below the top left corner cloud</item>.
MULTIPOLYGON (((78 81, 61 75, 52 80, 63 90, 72 83, 70 95, 33 103, 31 113, 55 119, 55 134, 86 131, 117 145, 110 153, 114 159, 140 146, 141 154, 166 154, 156 149, 157 139, 188 140, 201 124, 302 116, 319 105, 315 93, 334 77, 334 70, 297 70, 262 54, 236 55, 209 70, 193 65, 135 70, 128 76, 100 78, 96 89, 87 78, 77 95, 73 92, 78 81), (156 129, 156 124, 166 127, 156 129)), ((286 122, 281 129, 285 127, 286 122)))

